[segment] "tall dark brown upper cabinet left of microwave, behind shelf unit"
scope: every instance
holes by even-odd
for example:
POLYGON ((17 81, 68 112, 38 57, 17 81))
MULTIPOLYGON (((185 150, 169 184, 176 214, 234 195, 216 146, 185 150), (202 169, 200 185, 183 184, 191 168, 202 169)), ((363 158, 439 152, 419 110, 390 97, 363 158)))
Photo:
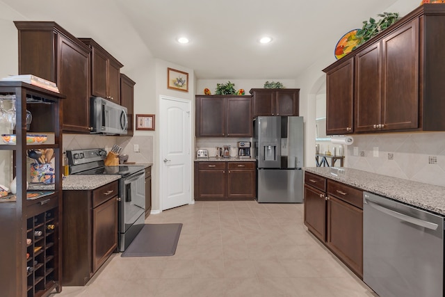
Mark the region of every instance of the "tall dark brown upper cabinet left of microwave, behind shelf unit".
MULTIPOLYGON (((63 100, 63 131, 89 133, 90 49, 56 22, 14 23, 19 39, 19 74, 55 82, 67 97, 63 100)), ((33 125, 36 131, 45 131, 47 122, 33 121, 33 125)))

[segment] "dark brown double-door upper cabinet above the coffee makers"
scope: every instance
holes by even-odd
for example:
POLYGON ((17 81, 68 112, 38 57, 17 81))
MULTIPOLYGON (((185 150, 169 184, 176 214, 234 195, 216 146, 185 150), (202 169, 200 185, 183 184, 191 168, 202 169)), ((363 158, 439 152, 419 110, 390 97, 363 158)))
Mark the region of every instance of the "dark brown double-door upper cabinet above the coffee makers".
POLYGON ((196 96, 196 137, 252 137, 252 97, 196 96))

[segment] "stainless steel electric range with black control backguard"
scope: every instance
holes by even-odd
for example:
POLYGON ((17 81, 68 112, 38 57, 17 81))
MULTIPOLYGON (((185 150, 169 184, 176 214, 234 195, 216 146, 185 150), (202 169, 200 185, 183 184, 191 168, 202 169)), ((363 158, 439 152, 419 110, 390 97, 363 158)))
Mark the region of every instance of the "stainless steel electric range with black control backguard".
POLYGON ((123 252, 145 223, 145 167, 104 166, 106 150, 67 150, 70 174, 120 175, 118 248, 123 252))

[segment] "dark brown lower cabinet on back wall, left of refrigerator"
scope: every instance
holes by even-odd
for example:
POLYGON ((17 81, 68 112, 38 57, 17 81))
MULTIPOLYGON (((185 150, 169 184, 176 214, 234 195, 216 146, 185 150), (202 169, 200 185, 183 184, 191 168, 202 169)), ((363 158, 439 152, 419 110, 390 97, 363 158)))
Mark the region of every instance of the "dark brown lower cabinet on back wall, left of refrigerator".
POLYGON ((195 162, 195 200, 251 200, 255 197, 254 162, 195 162))

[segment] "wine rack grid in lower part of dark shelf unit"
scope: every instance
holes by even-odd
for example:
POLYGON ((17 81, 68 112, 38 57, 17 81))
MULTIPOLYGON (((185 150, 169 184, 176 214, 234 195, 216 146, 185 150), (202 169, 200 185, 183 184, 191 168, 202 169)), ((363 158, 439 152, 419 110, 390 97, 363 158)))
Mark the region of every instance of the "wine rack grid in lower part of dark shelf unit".
POLYGON ((58 209, 32 216, 26 220, 26 225, 26 282, 27 296, 31 297, 55 284, 58 209))

